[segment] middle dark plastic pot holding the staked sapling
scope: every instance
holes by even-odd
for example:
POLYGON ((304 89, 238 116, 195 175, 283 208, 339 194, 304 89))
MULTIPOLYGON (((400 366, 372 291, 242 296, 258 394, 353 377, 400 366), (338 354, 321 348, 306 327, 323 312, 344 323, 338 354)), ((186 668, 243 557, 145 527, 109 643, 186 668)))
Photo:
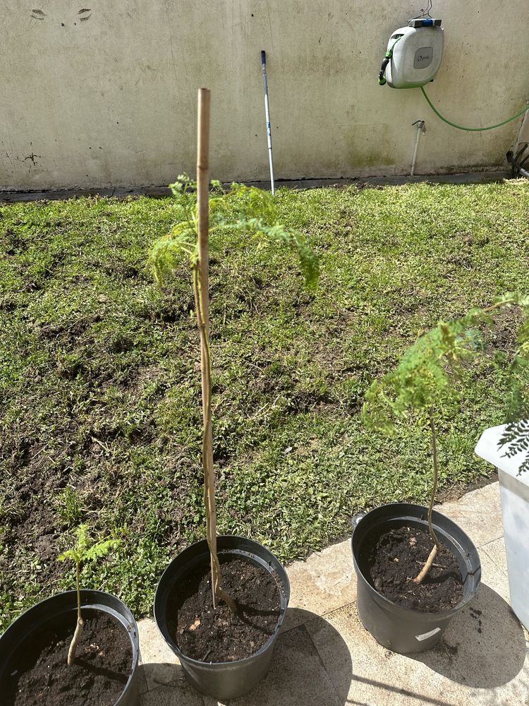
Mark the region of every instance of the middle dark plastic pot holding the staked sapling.
POLYGON ((281 630, 288 599, 290 598, 290 583, 288 576, 279 560, 264 546, 252 539, 222 535, 217 537, 217 549, 234 557, 243 557, 250 562, 263 566, 276 579, 281 595, 281 611, 279 621, 269 640, 251 657, 238 659, 236 662, 200 662, 191 659, 178 648, 173 636, 169 633, 167 605, 173 590, 179 580, 198 564, 209 561, 209 548, 205 539, 188 546, 178 554, 159 580, 154 595, 154 620, 164 640, 181 662, 182 669, 188 681, 203 694, 219 701, 234 699, 252 690, 267 674, 274 651, 274 644, 281 630))

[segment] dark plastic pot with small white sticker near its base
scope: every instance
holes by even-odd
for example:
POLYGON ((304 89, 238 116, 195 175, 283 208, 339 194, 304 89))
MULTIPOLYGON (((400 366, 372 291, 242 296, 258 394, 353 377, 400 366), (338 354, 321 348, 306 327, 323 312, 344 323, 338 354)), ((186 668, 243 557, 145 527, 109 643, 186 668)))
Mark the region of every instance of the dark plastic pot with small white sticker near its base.
POLYGON ((396 605, 372 586, 363 549, 366 541, 398 527, 416 527, 428 531, 427 508, 408 503, 391 503, 353 518, 353 564, 358 578, 357 605, 360 621, 366 630, 388 650, 424 652, 442 638, 451 619, 473 599, 481 579, 478 551, 455 522, 435 510, 434 530, 440 542, 456 556, 463 579, 463 598, 453 609, 443 613, 421 613, 396 605))

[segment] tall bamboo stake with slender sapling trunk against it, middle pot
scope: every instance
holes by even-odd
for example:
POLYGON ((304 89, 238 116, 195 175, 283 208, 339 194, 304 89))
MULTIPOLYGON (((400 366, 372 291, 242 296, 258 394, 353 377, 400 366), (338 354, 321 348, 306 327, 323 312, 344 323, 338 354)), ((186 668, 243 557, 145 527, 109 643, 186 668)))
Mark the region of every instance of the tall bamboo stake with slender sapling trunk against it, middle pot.
POLYGON ((202 467, 204 469, 204 503, 207 521, 207 544, 211 554, 213 607, 217 597, 237 612, 233 599, 221 588, 221 571, 217 556, 217 508, 211 420, 211 357, 209 355, 209 106, 210 92, 198 90, 197 134, 197 233, 198 268, 193 272, 193 289, 200 331, 200 366, 202 372, 202 467))

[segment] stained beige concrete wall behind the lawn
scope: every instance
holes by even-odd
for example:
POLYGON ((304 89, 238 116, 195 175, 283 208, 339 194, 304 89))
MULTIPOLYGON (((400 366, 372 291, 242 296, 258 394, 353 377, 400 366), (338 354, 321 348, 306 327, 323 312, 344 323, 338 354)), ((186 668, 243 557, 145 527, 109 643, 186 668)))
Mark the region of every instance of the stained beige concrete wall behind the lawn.
MULTIPOLYGON (((419 90, 377 85, 391 31, 420 12, 369 0, 7 0, 0 14, 0 189, 167 184, 195 172, 196 92, 212 89, 212 175, 266 180, 266 49, 279 179, 505 167, 519 121, 465 133, 419 90)), ((529 3, 434 0, 444 60, 429 92, 491 124, 529 97, 529 3)))

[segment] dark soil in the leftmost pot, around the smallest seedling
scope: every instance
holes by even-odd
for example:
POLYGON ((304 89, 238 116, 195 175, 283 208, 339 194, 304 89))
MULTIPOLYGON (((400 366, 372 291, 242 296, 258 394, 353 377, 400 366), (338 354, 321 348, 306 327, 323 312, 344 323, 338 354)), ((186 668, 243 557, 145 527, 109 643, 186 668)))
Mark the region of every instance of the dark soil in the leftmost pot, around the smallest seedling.
MULTIPOLYGON (((88 612, 88 611, 87 611, 88 612)), ((13 660, 18 666, 7 684, 6 706, 113 706, 132 668, 132 650, 126 631, 115 618, 92 611, 68 666, 75 616, 61 618, 32 635, 30 645, 13 660)))

